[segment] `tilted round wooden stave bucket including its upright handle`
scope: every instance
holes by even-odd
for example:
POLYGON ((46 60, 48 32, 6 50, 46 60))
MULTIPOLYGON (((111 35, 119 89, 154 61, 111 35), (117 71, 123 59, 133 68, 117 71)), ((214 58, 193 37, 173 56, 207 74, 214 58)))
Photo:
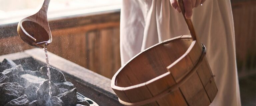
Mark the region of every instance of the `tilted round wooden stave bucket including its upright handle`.
MULTIPOLYGON (((184 16, 182 0, 178 0, 184 16)), ((185 16, 184 16, 185 18, 185 16)), ((124 105, 208 106, 218 90, 206 48, 191 35, 158 43, 134 56, 111 80, 111 87, 124 105)))

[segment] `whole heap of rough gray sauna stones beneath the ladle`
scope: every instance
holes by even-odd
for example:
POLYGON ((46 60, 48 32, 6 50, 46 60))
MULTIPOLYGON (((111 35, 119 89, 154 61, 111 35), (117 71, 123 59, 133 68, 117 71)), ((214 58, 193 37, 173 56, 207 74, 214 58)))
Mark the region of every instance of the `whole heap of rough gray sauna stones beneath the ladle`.
MULTIPOLYGON (((6 59, 0 65, 8 61, 6 59)), ((89 106, 89 102, 77 95, 77 89, 66 81, 60 70, 51 67, 51 71, 55 81, 51 82, 52 98, 49 95, 47 70, 44 73, 43 67, 41 72, 24 71, 21 65, 5 69, 0 73, 0 106, 89 106)))

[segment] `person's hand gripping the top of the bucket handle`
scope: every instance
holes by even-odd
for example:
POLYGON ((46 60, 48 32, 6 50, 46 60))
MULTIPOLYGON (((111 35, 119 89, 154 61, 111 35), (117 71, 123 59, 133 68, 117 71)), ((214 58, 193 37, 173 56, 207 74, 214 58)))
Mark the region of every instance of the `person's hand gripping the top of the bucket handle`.
MULTIPOLYGON (((178 6, 177 0, 170 0, 172 7, 178 11, 180 11, 180 8, 178 6)), ((199 6, 200 4, 203 4, 205 0, 183 0, 184 8, 185 8, 185 17, 187 19, 190 19, 192 16, 192 9, 199 6)))

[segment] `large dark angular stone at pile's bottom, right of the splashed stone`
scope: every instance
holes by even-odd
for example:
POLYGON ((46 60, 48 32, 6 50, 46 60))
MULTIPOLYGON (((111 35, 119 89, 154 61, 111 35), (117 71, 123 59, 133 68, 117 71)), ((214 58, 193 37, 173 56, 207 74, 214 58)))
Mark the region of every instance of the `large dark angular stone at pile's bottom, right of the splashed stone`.
POLYGON ((77 102, 76 92, 77 90, 74 88, 70 91, 58 95, 57 97, 64 102, 64 106, 75 106, 77 102))

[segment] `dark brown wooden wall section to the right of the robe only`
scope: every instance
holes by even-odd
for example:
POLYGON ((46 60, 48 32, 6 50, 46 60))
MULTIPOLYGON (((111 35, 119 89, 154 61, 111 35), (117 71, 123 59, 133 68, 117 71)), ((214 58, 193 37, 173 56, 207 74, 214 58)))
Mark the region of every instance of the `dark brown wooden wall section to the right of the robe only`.
POLYGON ((255 74, 256 0, 231 0, 239 77, 255 74))

